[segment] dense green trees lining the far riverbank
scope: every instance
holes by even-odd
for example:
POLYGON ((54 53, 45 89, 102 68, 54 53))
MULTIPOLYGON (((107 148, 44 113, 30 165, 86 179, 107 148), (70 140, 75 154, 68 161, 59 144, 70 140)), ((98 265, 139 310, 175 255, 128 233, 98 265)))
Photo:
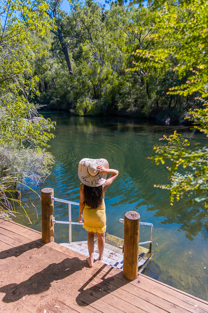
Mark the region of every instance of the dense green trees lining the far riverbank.
MULTIPOLYGON (((169 56, 169 69, 162 73, 148 66, 126 71, 134 67, 134 51, 158 45, 149 38, 156 32, 157 14, 150 7, 111 4, 106 10, 87 0, 73 2, 69 14, 59 8, 55 14, 56 29, 44 38, 33 34, 41 52, 48 51, 34 63, 40 78, 37 103, 78 115, 120 112, 166 121, 178 121, 197 106, 197 93, 167 94, 187 80, 178 78, 175 56, 169 56)), ((168 40, 162 45, 168 46, 168 40)))

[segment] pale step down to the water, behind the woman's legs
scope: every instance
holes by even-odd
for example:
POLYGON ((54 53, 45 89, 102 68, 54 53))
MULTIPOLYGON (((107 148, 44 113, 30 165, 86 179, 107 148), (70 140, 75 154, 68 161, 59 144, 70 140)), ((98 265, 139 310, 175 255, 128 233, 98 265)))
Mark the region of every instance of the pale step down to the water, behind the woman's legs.
MULTIPOLYGON (((69 243, 60 243, 60 244, 73 251, 86 255, 86 257, 89 256, 88 246, 86 243, 73 244, 73 245, 69 243)), ((104 264, 122 269, 123 268, 123 256, 115 252, 113 248, 114 247, 112 246, 112 249, 111 249, 110 244, 105 245, 103 259, 101 262, 103 262, 104 264)), ((99 257, 98 245, 95 244, 94 259, 96 260, 98 257, 99 257)))

